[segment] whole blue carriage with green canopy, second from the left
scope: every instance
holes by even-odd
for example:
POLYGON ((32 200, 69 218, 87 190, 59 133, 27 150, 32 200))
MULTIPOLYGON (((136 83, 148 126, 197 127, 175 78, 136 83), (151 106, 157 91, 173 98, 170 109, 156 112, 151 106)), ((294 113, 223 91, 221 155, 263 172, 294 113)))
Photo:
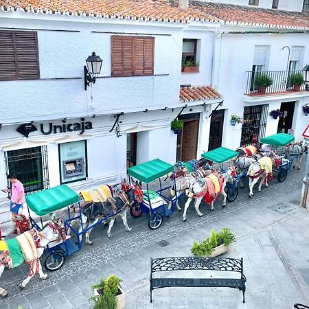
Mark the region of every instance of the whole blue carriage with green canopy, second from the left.
POLYGON ((168 192, 171 185, 162 187, 161 176, 165 176, 170 172, 174 174, 173 181, 175 182, 174 166, 160 159, 154 159, 128 168, 130 176, 146 183, 146 190, 143 190, 141 202, 130 207, 130 214, 135 218, 143 213, 149 214, 148 227, 150 229, 158 229, 163 222, 163 218, 168 218, 170 214, 174 213, 176 202, 185 194, 185 192, 181 194, 175 192, 174 197, 171 198, 165 193, 168 192), (149 190, 149 183, 157 179, 159 179, 159 190, 149 190))

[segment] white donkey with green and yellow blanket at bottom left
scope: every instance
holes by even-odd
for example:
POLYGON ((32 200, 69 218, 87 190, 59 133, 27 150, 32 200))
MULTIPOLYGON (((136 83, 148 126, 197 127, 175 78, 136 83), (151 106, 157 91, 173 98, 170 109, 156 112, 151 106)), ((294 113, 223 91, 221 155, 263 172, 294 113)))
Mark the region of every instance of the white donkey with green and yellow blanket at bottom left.
MULTIPOLYGON (((67 236, 65 235, 65 225, 59 218, 55 218, 54 220, 47 222, 41 231, 37 231, 32 228, 30 231, 27 231, 12 240, 14 242, 16 240, 16 242, 20 244, 21 252, 23 252, 23 258, 19 255, 20 258, 18 260, 16 259, 16 255, 14 255, 14 258, 11 258, 9 253, 10 240, 8 240, 8 243, 1 240, 0 248, 2 251, 0 251, 0 277, 5 267, 14 268, 23 262, 28 262, 30 264, 30 273, 28 277, 19 285, 19 288, 21 290, 25 288, 25 286, 30 282, 30 279, 32 279, 36 273, 40 275, 41 279, 45 280, 48 275, 43 273, 39 259, 49 242, 60 240, 61 238, 62 241, 65 241, 67 236), (30 240, 28 240, 29 238, 30 240), (8 249, 5 250, 5 247, 8 249), (23 259, 26 259, 26 261, 23 261, 23 259)), ((2 297, 7 297, 8 291, 4 288, 0 288, 0 295, 2 295, 2 297)))

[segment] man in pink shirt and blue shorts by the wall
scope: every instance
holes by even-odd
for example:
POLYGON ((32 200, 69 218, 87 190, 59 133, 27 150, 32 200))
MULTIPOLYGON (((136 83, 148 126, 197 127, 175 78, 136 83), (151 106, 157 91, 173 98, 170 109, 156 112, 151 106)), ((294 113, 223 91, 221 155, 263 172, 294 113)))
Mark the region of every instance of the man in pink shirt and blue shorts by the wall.
POLYGON ((10 182, 12 183, 12 189, 3 189, 3 192, 11 192, 10 201, 10 211, 12 220, 15 219, 15 214, 19 213, 19 209, 25 203, 25 191, 23 189, 23 184, 19 181, 16 175, 12 174, 8 176, 10 182))

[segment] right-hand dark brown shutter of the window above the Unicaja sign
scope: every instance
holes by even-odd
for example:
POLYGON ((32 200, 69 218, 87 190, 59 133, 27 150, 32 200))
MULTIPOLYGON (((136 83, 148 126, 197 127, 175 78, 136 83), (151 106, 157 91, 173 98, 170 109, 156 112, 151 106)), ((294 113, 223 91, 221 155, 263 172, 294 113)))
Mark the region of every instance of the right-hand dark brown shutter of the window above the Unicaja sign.
POLYGON ((40 78, 36 32, 15 32, 19 79, 40 78))

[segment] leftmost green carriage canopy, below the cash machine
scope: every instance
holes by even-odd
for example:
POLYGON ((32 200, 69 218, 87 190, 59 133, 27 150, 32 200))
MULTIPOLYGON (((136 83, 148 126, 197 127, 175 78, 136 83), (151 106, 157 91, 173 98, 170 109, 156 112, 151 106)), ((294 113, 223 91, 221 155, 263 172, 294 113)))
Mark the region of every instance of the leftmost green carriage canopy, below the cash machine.
POLYGON ((38 216, 67 207, 79 201, 78 194, 67 185, 59 185, 26 196, 27 206, 38 216))

